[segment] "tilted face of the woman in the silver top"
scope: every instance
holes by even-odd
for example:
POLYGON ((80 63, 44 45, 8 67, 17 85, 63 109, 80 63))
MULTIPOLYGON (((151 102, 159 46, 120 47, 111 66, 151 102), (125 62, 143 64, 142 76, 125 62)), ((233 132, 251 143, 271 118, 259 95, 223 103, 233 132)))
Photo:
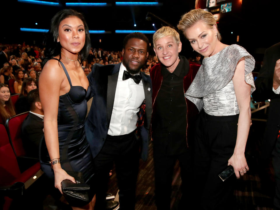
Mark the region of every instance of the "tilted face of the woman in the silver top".
POLYGON ((209 28, 202 20, 198 21, 189 29, 186 29, 185 36, 190 41, 192 48, 204 57, 216 54, 217 28, 209 28))

